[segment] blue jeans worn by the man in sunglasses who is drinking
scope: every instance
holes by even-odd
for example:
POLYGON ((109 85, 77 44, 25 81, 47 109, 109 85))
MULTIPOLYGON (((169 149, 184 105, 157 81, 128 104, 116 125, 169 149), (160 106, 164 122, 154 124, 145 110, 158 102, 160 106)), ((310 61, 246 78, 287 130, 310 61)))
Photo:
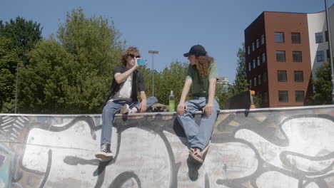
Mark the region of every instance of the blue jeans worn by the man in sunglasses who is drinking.
MULTIPOLYGON (((147 108, 150 108, 151 105, 158 103, 156 97, 147 98, 147 108)), ((114 100, 112 102, 106 103, 102 111, 102 131, 101 131, 101 145, 103 143, 111 143, 111 133, 113 130, 113 117, 119 112, 123 105, 128 104, 130 108, 137 107, 139 108, 141 103, 128 102, 126 100, 114 100)))

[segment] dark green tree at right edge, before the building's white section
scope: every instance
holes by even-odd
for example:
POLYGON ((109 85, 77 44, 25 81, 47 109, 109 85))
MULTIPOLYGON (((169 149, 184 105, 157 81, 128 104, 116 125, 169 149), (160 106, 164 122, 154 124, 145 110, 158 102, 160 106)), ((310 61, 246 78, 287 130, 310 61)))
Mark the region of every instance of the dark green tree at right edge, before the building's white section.
POLYGON ((326 62, 315 71, 316 79, 312 80, 314 93, 308 101, 309 105, 326 105, 332 103, 332 83, 330 63, 326 62))

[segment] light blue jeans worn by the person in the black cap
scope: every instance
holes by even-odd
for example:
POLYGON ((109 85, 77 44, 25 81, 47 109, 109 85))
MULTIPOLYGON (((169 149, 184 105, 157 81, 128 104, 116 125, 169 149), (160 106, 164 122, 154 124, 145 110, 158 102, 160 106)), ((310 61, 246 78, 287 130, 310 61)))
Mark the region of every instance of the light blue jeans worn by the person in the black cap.
POLYGON ((192 100, 186 101, 186 106, 188 107, 185 110, 183 116, 178 115, 178 122, 180 122, 183 127, 188 142, 191 143, 191 147, 199 147, 201 150, 208 145, 210 137, 213 131, 217 119, 217 113, 219 110, 219 105, 216 100, 213 101, 213 110, 210 116, 207 116, 205 113, 201 116, 200 125, 197 125, 193 118, 193 114, 198 110, 202 110, 208 103, 208 98, 193 98, 192 100))

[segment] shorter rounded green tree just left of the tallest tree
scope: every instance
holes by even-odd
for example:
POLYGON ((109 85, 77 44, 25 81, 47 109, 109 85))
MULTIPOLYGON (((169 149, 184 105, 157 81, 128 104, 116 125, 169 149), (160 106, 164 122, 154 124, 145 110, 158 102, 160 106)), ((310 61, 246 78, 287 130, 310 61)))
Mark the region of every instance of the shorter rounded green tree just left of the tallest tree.
POLYGON ((20 113, 64 113, 66 89, 76 62, 56 40, 41 41, 29 53, 30 64, 19 74, 20 113))

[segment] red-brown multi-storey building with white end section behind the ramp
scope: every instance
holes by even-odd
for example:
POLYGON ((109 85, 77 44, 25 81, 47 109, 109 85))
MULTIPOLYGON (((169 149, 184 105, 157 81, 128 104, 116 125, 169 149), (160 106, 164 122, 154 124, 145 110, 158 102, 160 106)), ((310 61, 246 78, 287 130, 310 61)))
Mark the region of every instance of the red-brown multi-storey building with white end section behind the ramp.
MULTIPOLYGON (((329 10, 334 31, 334 6, 329 10)), ((261 107, 305 105, 313 92, 310 78, 329 56, 327 41, 325 11, 260 14, 245 29, 245 46, 247 79, 261 107)))

